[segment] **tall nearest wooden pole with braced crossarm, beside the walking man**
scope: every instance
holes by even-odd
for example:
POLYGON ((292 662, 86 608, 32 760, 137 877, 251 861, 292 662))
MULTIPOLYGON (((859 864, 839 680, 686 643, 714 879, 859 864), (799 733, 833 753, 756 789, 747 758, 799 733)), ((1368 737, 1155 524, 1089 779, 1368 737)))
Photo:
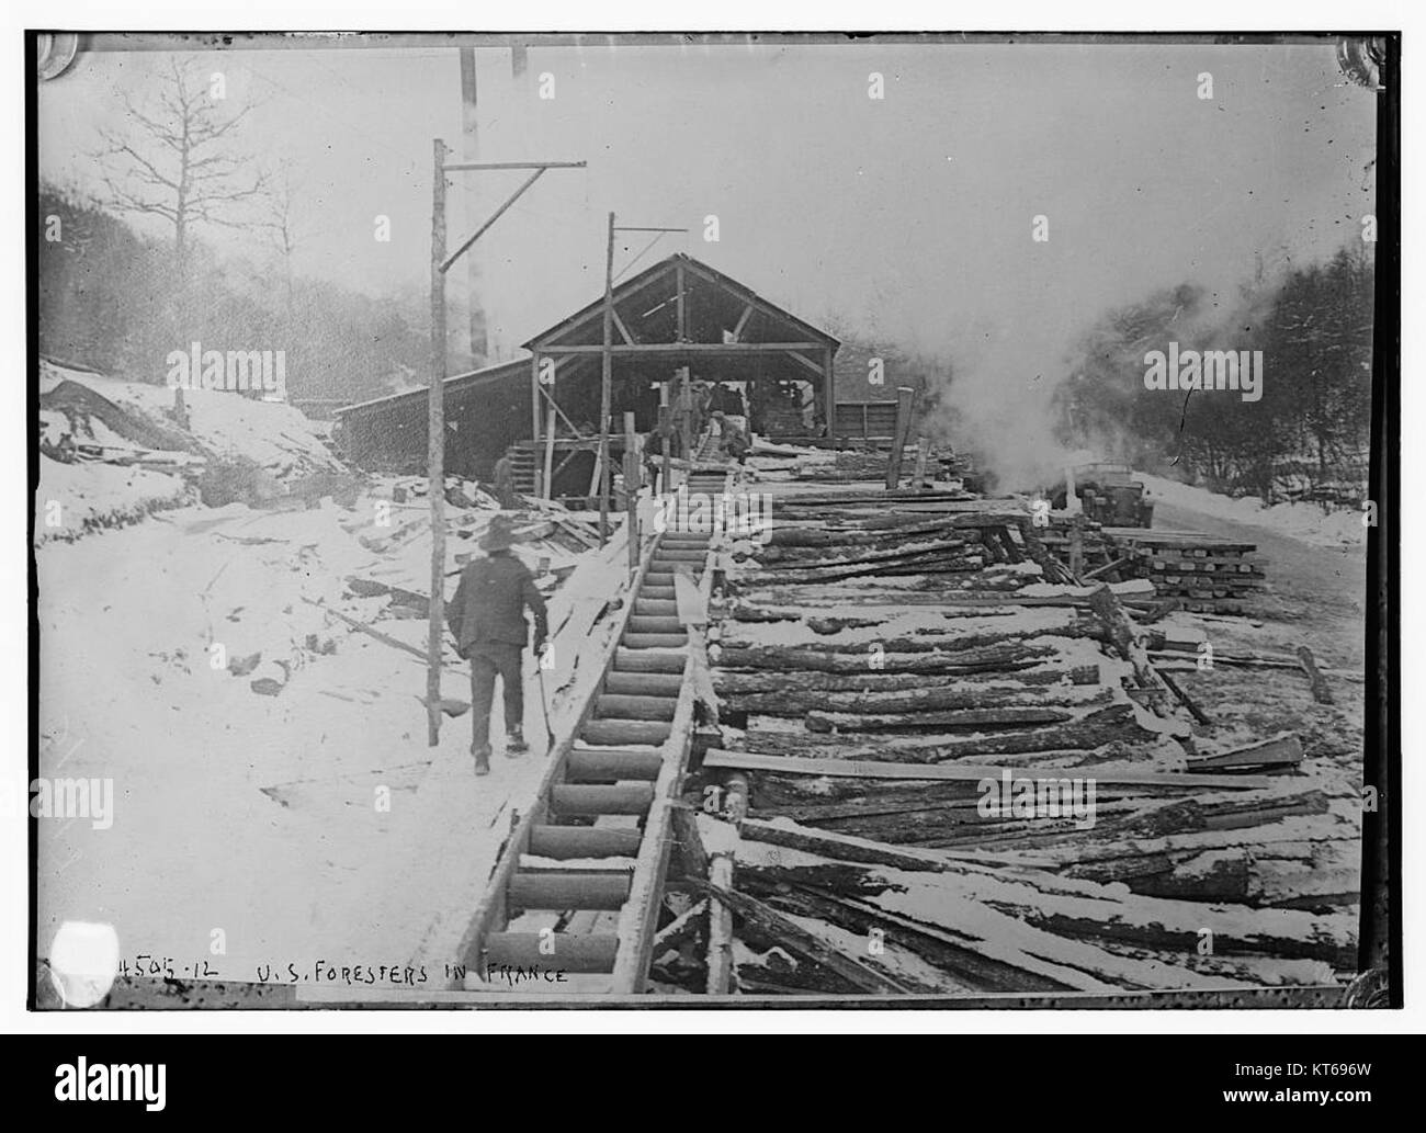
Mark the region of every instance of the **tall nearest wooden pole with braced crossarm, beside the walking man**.
POLYGON ((445 276, 451 267, 483 237, 506 209, 533 185, 545 170, 582 170, 583 161, 446 161, 446 144, 434 141, 435 167, 431 188, 431 395, 426 412, 426 470, 431 496, 431 621, 426 634, 426 721, 431 747, 441 743, 441 634, 445 624, 445 276), (489 219, 446 252, 446 191, 451 172, 533 170, 489 219))

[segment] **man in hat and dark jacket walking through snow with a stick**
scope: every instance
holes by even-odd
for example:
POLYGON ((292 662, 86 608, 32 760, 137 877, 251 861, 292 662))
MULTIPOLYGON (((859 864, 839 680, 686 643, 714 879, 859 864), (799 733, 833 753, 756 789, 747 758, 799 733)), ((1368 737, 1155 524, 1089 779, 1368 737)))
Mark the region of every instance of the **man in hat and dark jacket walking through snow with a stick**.
POLYGON ((446 607, 446 624, 455 634, 456 653, 471 663, 471 720, 475 728, 471 754, 476 775, 491 774, 491 705, 496 674, 505 700, 505 754, 513 757, 529 751, 522 731, 522 663, 529 640, 526 606, 535 614, 536 657, 549 634, 545 599, 535 589, 535 576, 511 553, 513 544, 512 520, 508 516, 492 517, 479 543, 485 557, 472 559, 461 571, 461 584, 446 607))

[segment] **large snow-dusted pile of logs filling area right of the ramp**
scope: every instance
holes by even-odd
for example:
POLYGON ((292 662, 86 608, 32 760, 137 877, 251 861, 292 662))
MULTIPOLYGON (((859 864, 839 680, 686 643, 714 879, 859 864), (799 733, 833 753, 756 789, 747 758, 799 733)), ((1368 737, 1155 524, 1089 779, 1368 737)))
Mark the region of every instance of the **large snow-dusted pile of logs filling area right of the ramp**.
MULTIPOLYGON (((1356 809, 1296 778, 1293 735, 1215 747, 1165 677, 1169 638, 1134 619, 1171 542, 1134 529, 1131 554, 1081 523, 1075 579, 1014 500, 787 492, 773 519, 712 607, 720 737, 686 797, 736 777, 746 800, 724 872, 690 882, 719 925, 710 988, 1232 989, 1355 966, 1356 809), (1001 777, 1092 784, 1091 811, 987 811, 1001 777)), ((679 955, 670 978, 702 975, 679 955)))

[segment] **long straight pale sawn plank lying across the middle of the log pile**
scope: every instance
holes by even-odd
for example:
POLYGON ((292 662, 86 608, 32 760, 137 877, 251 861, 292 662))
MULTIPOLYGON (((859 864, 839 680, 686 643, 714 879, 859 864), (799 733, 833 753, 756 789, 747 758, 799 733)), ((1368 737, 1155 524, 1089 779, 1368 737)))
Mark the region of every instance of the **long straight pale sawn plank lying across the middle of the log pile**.
MULTIPOLYGON (((1062 778, 1064 767, 974 767, 965 764, 896 764, 873 760, 804 760, 794 755, 759 755, 752 751, 722 751, 710 748, 703 755, 704 768, 736 768, 742 771, 774 771, 779 775, 830 775, 833 778, 866 780, 938 780, 980 782, 998 780, 1002 771, 1014 778, 1062 778)), ((1225 791, 1256 791, 1272 785, 1266 775, 1188 775, 1176 771, 1098 771, 1075 768, 1081 778, 1114 787, 1178 787, 1201 791, 1205 787, 1225 791)))

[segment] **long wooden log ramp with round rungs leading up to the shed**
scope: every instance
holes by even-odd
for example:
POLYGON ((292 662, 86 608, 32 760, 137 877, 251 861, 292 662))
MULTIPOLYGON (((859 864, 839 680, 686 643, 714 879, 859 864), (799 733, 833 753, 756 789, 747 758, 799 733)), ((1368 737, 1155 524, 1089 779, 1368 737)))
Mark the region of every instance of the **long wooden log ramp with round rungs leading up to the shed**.
MULTIPOLYGON (((722 469, 699 470, 689 490, 726 483, 722 469)), ((479 986, 511 990, 518 971, 518 990, 643 990, 704 647, 703 627, 679 616, 676 576, 706 599, 712 554, 707 533, 682 532, 645 552, 603 678, 559 740, 462 939, 456 959, 479 986)))

